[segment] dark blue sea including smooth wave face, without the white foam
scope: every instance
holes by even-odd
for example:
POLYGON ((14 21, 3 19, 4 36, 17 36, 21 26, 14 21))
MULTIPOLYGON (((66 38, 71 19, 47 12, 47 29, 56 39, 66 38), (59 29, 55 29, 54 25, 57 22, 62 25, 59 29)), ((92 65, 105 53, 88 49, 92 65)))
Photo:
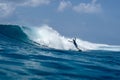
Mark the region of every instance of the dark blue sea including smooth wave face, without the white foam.
POLYGON ((0 80, 120 80, 120 51, 42 47, 18 27, 5 26, 0 25, 0 80))

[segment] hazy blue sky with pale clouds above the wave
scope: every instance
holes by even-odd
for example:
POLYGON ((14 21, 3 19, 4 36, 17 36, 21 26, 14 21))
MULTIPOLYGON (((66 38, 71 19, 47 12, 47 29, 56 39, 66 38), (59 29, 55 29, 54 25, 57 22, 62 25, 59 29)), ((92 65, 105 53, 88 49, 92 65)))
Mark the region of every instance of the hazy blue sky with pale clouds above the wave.
POLYGON ((0 0, 0 24, 48 25, 66 37, 120 45, 120 0, 0 0))

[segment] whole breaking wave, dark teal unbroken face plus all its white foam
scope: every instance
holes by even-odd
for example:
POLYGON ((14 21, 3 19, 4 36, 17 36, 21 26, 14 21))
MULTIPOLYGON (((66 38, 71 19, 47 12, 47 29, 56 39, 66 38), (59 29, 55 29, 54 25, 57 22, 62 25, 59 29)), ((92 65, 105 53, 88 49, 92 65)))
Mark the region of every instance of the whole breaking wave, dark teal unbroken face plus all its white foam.
MULTIPOLYGON (((48 25, 40 27, 24 27, 18 25, 0 25, 0 33, 23 42, 35 42, 49 48, 61 50, 77 50, 73 43, 69 42, 72 38, 60 35, 56 30, 48 25)), ((77 38, 78 47, 83 50, 109 50, 120 51, 120 46, 97 44, 77 38)))

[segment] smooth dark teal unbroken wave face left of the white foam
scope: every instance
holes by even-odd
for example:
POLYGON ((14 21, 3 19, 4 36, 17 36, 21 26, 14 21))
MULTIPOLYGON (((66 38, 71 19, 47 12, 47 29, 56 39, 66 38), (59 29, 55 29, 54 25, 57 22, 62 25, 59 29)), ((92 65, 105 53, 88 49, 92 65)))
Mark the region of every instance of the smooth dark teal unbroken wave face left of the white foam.
POLYGON ((29 41, 28 36, 18 25, 0 25, 0 34, 21 41, 29 41))

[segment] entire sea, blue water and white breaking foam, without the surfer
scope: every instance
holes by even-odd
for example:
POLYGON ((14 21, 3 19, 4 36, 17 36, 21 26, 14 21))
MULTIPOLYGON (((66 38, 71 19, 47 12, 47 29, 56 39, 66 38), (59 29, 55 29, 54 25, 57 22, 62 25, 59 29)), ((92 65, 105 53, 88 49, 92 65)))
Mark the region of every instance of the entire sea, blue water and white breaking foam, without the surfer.
POLYGON ((77 38, 78 52, 47 25, 0 25, 0 80, 120 80, 120 46, 77 38))

